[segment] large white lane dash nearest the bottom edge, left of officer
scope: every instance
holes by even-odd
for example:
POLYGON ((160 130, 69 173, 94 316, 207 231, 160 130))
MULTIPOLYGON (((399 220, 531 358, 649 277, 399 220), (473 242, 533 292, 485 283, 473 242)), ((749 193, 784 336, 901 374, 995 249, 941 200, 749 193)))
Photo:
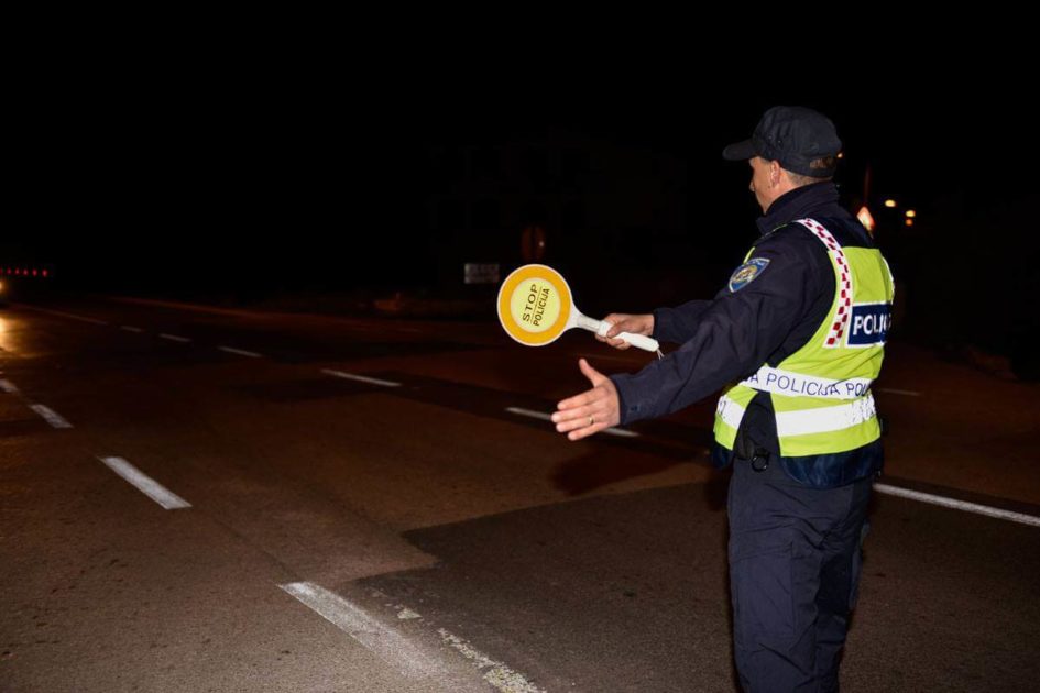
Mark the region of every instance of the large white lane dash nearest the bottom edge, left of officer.
POLYGON ((291 582, 278 586, 397 672, 410 679, 433 678, 444 672, 438 661, 408 642, 399 632, 384 626, 360 606, 338 594, 313 582, 291 582))

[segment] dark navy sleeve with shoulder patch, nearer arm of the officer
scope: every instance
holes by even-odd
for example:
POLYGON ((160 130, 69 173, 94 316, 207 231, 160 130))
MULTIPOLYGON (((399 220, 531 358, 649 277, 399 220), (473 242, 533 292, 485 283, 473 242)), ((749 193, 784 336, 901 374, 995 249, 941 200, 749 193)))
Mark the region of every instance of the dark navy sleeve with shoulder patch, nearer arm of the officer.
POLYGON ((826 256, 811 243, 797 230, 760 241, 749 260, 768 264, 742 288, 724 288, 709 301, 678 351, 638 373, 610 376, 621 424, 678 411, 757 371, 829 286, 826 256))

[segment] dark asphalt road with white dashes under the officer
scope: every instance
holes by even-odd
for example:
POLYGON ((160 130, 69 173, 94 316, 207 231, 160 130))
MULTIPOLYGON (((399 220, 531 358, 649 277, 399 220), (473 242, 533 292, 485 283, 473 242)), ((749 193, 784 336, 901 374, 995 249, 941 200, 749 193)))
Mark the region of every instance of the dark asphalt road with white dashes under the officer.
MULTIPOLYGON (((108 297, 0 350, 0 691, 735 690, 713 403, 538 418, 645 353, 108 297)), ((876 392, 880 482, 959 507, 875 494, 843 689, 1040 690, 1037 386, 876 392)))

